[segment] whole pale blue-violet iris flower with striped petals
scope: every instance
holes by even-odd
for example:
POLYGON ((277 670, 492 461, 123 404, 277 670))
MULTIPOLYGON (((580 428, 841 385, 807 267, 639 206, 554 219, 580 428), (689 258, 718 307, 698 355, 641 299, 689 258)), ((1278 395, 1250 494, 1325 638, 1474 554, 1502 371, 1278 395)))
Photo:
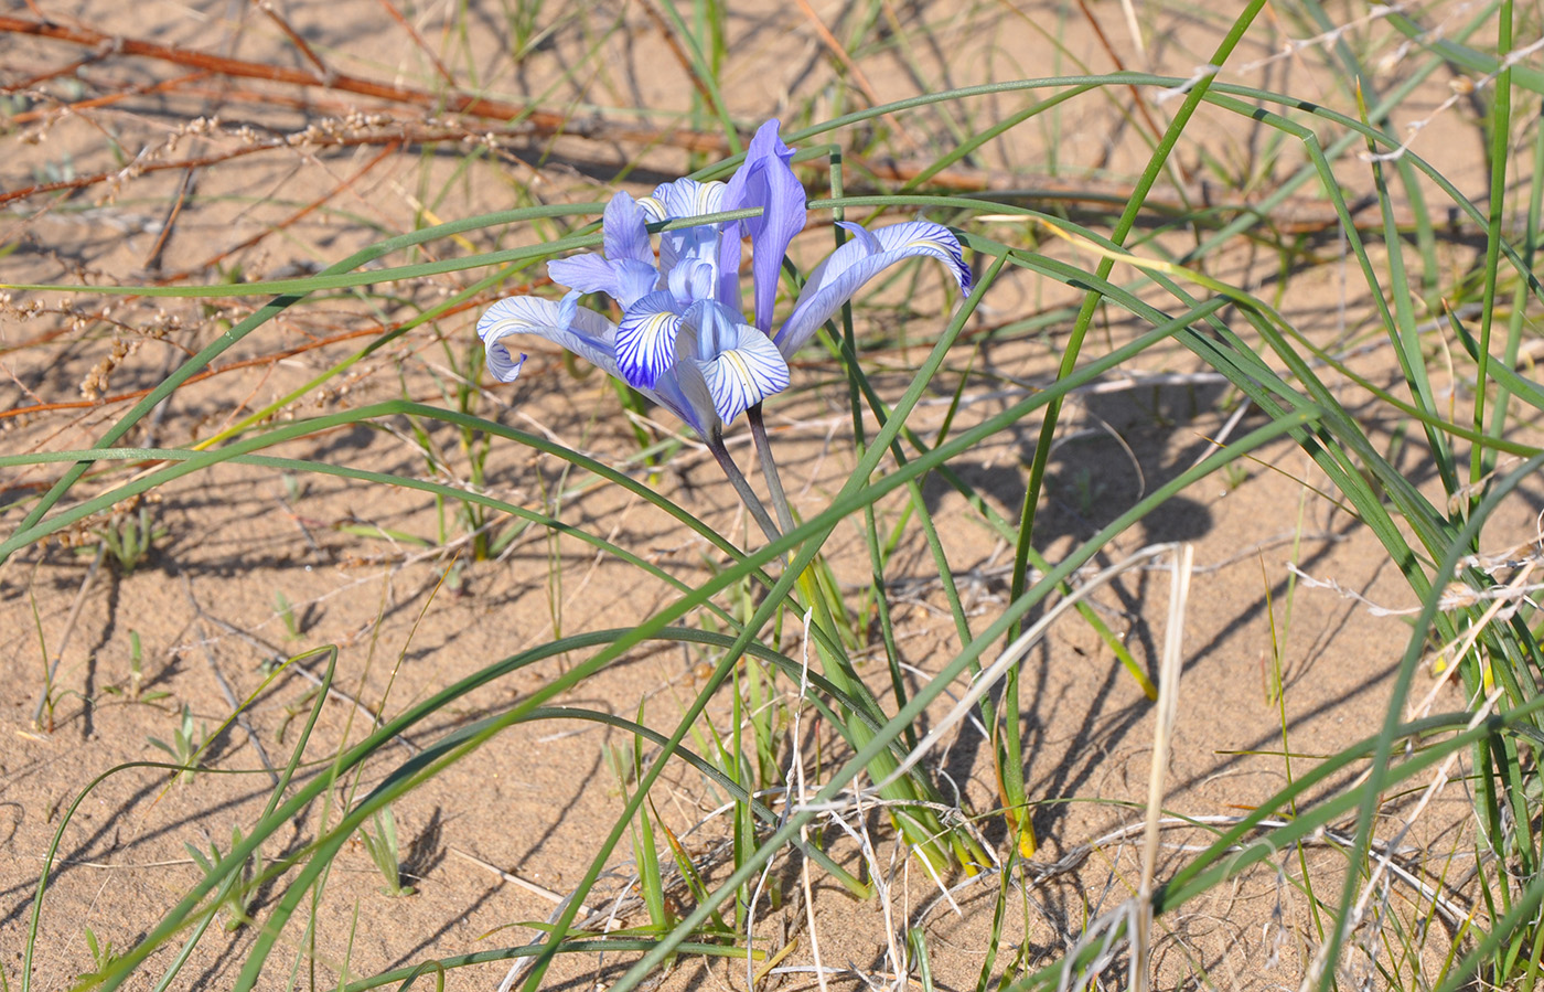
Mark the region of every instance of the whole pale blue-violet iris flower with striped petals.
POLYGON ((602 218, 602 252, 554 260, 547 272, 573 292, 560 301, 508 297, 477 321, 488 368, 514 382, 525 355, 505 338, 531 334, 621 379, 675 413, 704 439, 766 397, 787 388, 787 358, 882 269, 905 258, 940 260, 962 289, 970 269, 959 240, 942 224, 906 221, 869 232, 843 224, 852 240, 821 261, 774 329, 778 270, 804 229, 804 187, 789 167, 794 150, 767 121, 729 182, 676 179, 633 199, 611 198, 602 218), (647 224, 760 207, 743 221, 713 221, 659 233, 658 258, 647 224), (741 240, 750 238, 752 309, 740 300, 741 240), (621 323, 579 306, 582 294, 616 301, 621 323))

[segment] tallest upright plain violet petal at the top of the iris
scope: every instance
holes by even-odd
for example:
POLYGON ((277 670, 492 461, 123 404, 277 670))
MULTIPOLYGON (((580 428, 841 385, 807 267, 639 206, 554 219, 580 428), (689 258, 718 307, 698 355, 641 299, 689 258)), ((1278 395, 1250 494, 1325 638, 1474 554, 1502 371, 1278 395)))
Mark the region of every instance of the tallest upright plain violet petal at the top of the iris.
MULTIPOLYGON (((778 121, 774 117, 757 130, 744 164, 729 179, 724 192, 724 210, 761 207, 761 216, 747 218, 741 224, 750 235, 755 323, 766 332, 772 329, 772 304, 777 300, 783 256, 794 236, 804 230, 808 219, 804 187, 789 168, 792 158, 794 150, 778 138, 778 121)), ((726 241, 738 241, 736 232, 726 230, 726 241)), ((740 261, 738 255, 735 261, 740 261)))

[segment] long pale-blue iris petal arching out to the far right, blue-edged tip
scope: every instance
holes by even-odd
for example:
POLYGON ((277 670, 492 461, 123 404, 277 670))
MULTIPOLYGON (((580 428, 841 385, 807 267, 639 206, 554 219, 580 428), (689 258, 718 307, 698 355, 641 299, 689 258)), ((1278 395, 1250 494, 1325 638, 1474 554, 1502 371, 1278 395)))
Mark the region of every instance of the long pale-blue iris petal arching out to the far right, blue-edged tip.
POLYGON ((875 232, 854 229, 852 241, 838 247, 809 273, 809 281, 794 303, 794 312, 772 338, 778 351, 794 354, 863 283, 882 269, 919 255, 943 261, 960 289, 970 289, 970 267, 965 266, 959 238, 948 227, 931 221, 908 221, 875 232))

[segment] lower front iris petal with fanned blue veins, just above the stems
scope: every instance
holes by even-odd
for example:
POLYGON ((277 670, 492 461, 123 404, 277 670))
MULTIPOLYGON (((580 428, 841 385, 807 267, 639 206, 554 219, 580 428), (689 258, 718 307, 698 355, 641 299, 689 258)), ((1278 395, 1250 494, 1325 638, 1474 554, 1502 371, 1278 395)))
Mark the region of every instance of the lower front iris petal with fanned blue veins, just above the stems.
POLYGON ((682 315, 676 372, 687 397, 710 403, 723 423, 787 388, 787 362, 767 335, 713 300, 682 315))

